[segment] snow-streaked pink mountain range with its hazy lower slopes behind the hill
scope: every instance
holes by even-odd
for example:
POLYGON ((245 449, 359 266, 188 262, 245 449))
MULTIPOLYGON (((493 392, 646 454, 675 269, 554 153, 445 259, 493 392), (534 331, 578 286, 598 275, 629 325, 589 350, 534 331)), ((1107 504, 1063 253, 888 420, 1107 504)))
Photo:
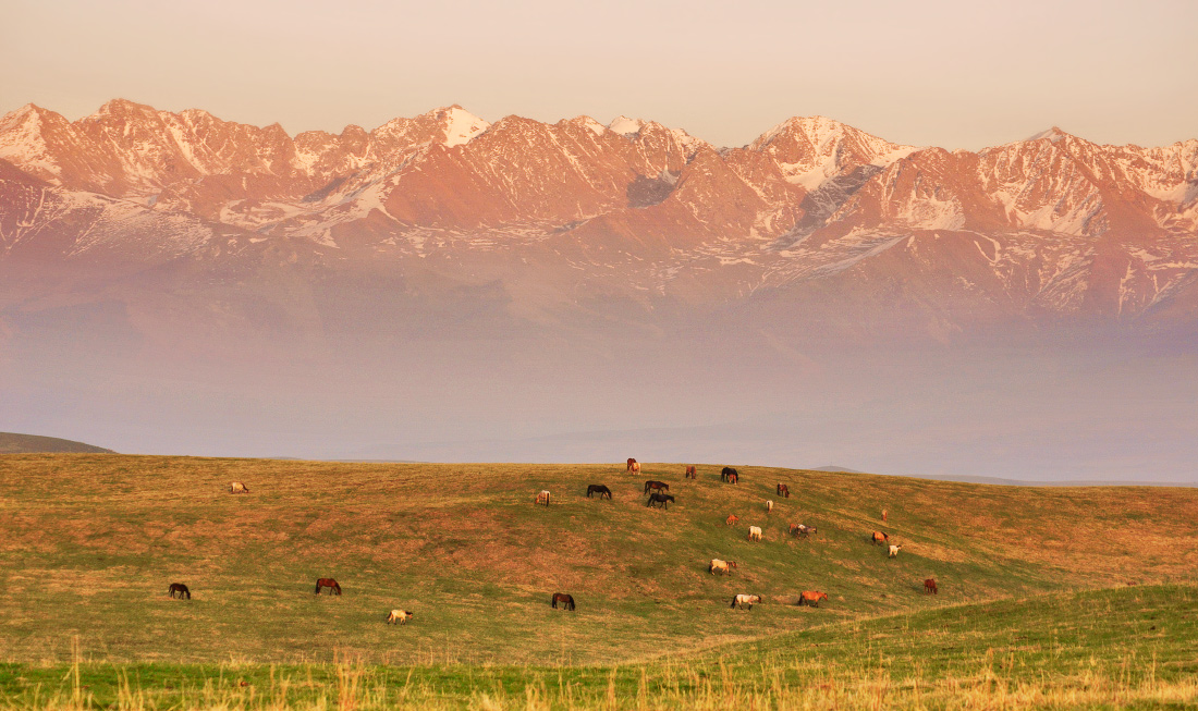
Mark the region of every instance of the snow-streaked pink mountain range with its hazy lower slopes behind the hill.
POLYGON ((1194 139, 0 118, 0 418, 121 451, 1185 479, 1196 316, 1194 139))

